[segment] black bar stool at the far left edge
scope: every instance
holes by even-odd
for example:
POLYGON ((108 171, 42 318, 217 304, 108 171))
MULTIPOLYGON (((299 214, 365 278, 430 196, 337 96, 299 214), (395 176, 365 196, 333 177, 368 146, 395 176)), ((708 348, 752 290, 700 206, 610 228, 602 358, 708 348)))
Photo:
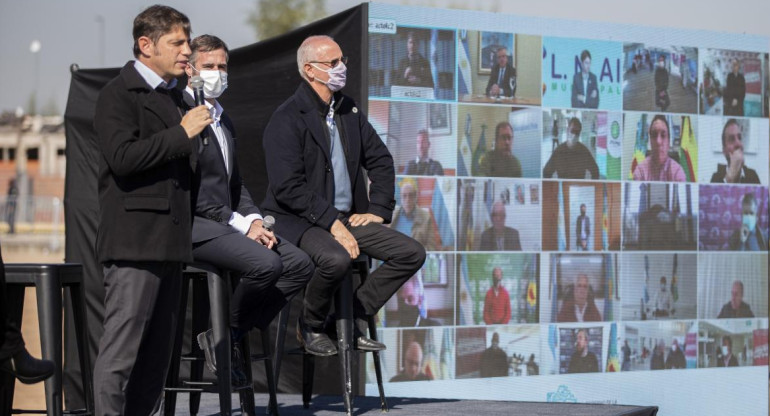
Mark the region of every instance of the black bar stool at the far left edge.
MULTIPOLYGON (((53 376, 45 380, 46 410, 12 410, 11 413, 42 413, 49 416, 62 414, 91 415, 94 412, 94 389, 91 362, 86 352, 86 305, 83 287, 83 267, 80 264, 22 264, 5 265, 5 281, 8 297, 16 299, 16 310, 9 311, 11 320, 21 323, 24 308, 24 289, 35 287, 37 314, 40 325, 40 345, 44 359, 56 364, 53 376), (86 408, 67 411, 62 404, 62 289, 69 292, 75 320, 78 357, 80 358, 81 382, 86 395, 86 408)), ((21 326, 21 325, 19 325, 21 326)), ((11 387, 13 389, 13 387, 11 387)), ((13 400, 13 392, 10 393, 13 400)), ((8 403, 8 406, 11 404, 8 403)), ((6 409, 0 409, 4 411, 6 409)))

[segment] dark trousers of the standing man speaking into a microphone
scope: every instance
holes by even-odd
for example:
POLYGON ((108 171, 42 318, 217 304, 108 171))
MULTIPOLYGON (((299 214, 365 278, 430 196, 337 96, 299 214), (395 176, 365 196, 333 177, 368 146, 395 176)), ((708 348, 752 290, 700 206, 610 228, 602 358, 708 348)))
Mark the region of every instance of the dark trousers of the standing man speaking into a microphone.
POLYGON ((104 335, 94 369, 99 416, 154 413, 171 360, 182 264, 117 262, 104 267, 104 335))

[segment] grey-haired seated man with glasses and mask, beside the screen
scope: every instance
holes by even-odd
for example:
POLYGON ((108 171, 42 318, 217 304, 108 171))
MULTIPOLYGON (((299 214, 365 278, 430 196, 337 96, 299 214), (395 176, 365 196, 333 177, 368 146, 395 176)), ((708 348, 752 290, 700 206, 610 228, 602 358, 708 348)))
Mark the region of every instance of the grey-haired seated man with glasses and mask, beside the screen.
POLYGON ((340 92, 346 61, 332 38, 305 39, 297 51, 302 82, 273 113, 263 139, 269 186, 262 208, 316 265, 297 335, 308 353, 322 356, 337 352, 324 322, 359 253, 384 261, 353 296, 360 350, 385 348, 365 336, 367 319, 425 262, 420 243, 382 225, 395 207, 393 157, 353 99, 340 92))

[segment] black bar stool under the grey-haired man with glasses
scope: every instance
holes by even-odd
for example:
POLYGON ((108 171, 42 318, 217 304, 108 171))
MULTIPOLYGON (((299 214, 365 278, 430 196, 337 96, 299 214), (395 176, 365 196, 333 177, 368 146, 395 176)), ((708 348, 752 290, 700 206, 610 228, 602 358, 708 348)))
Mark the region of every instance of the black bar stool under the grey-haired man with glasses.
MULTIPOLYGON (((369 276, 369 257, 365 254, 353 260, 353 273, 348 275, 334 296, 334 308, 337 313, 337 355, 340 356, 340 372, 342 374, 342 399, 345 404, 346 415, 353 414, 353 275, 358 275, 363 282, 369 276)), ((286 341, 286 328, 289 323, 289 307, 286 305, 279 315, 278 333, 276 335, 275 380, 281 373, 281 359, 286 341)), ((369 318, 369 338, 377 341, 377 324, 374 317, 369 318)), ((302 354, 302 405, 310 407, 310 399, 313 395, 313 376, 315 374, 315 356, 302 354)), ((377 389, 380 393, 380 407, 383 412, 388 411, 388 403, 385 399, 385 390, 382 385, 382 366, 380 353, 372 351, 374 359, 374 371, 377 376, 377 389)))

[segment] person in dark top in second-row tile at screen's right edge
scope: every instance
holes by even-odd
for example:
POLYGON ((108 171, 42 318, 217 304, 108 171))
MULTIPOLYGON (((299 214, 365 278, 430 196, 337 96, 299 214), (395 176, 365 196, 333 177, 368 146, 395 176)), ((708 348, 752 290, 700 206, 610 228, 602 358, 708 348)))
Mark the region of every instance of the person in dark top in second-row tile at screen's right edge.
POLYGON ((727 164, 718 164, 711 183, 759 183, 757 171, 744 164, 743 126, 731 118, 722 129, 722 154, 727 164))

